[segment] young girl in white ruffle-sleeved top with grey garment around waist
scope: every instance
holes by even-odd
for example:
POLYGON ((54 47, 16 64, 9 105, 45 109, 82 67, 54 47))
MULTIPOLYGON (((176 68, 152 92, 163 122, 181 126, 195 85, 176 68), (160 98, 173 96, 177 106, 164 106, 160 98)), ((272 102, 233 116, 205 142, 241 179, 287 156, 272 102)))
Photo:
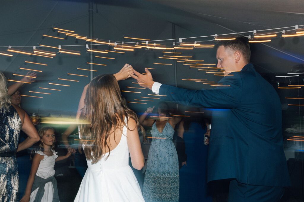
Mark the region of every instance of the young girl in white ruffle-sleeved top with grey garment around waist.
POLYGON ((54 177, 55 161, 61 161, 71 156, 70 151, 65 156, 57 156, 57 152, 54 151, 55 132, 53 128, 42 127, 38 133, 41 138, 39 149, 34 154, 25 195, 20 202, 59 201, 57 181, 54 177))

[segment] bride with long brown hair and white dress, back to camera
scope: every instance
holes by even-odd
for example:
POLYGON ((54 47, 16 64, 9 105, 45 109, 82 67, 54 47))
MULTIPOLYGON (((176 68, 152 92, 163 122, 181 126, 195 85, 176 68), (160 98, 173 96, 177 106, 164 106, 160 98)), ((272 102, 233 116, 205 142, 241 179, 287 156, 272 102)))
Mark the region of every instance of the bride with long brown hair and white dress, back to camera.
POLYGON ((95 77, 85 90, 81 119, 88 124, 79 135, 88 169, 74 201, 144 201, 129 166, 129 153, 134 168, 144 165, 135 112, 123 103, 112 75, 95 77))

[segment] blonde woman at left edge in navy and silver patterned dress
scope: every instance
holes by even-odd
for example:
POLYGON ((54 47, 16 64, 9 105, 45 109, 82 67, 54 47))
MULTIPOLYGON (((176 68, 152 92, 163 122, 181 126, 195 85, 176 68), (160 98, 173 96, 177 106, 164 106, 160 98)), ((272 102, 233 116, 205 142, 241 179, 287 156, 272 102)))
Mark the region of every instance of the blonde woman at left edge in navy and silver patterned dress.
POLYGON ((6 78, 0 72, 0 201, 18 201, 18 165, 16 152, 40 140, 24 110, 9 100, 6 78), (27 138, 18 144, 20 130, 27 138))

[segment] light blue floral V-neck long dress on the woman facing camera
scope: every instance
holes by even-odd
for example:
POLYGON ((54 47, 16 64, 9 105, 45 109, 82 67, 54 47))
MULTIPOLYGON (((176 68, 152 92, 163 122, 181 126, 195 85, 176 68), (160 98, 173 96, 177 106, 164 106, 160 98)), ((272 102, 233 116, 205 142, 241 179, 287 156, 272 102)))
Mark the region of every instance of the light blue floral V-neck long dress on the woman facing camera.
POLYGON ((167 122, 160 133, 154 122, 151 134, 152 137, 166 139, 153 139, 151 142, 143 182, 143 197, 146 201, 178 201, 178 157, 172 141, 174 128, 167 122))

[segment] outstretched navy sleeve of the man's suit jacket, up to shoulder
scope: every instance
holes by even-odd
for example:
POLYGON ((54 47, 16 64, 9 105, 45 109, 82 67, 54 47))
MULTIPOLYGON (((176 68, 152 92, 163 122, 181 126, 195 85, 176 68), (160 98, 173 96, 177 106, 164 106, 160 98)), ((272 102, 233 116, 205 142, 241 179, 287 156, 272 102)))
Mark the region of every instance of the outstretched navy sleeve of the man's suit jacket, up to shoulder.
POLYGON ((242 79, 240 73, 226 76, 219 81, 223 87, 202 90, 187 90, 162 84, 159 89, 162 99, 183 105, 203 108, 236 108, 242 97, 242 79))

